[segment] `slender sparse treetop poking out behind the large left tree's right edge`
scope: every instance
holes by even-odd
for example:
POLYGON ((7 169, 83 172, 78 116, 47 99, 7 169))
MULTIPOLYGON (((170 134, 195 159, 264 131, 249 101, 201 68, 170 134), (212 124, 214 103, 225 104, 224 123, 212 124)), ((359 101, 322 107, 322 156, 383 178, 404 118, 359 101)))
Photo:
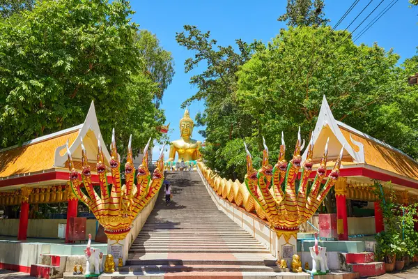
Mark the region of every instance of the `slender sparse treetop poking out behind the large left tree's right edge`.
POLYGON ((154 102, 160 106, 164 90, 171 84, 174 75, 174 61, 171 52, 163 50, 160 42, 153 33, 147 30, 138 32, 137 43, 139 53, 146 64, 146 73, 158 84, 158 91, 155 93, 154 102))

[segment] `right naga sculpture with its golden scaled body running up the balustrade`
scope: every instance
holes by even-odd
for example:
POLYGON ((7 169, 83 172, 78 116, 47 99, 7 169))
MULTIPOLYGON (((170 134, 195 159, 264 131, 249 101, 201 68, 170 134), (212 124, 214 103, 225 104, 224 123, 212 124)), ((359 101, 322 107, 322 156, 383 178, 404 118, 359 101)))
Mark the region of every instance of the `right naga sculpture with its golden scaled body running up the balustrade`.
POLYGON ((285 159, 286 144, 282 134, 279 160, 274 167, 268 162, 268 147, 264 143, 263 163, 258 171, 254 169, 251 154, 245 146, 247 151, 245 183, 240 183, 238 180, 227 181, 203 163, 198 163, 198 165, 205 179, 219 196, 228 199, 229 202, 234 202, 238 206, 243 206, 249 212, 256 211, 259 218, 268 220, 271 227, 277 232, 277 236, 284 235, 284 238, 288 241, 291 236, 296 238, 299 226, 314 215, 339 178, 339 167, 344 149, 343 146, 334 168, 323 185, 327 173, 328 144, 326 144, 323 158, 309 190, 308 179, 314 165, 312 162, 314 144, 312 140, 309 142, 308 155, 302 163, 300 151, 304 144, 301 146, 301 142, 300 133, 298 133, 293 158, 290 162, 287 162, 285 159), (302 171, 300 172, 301 167, 302 171), (295 184, 299 172, 300 181, 296 193, 295 184))

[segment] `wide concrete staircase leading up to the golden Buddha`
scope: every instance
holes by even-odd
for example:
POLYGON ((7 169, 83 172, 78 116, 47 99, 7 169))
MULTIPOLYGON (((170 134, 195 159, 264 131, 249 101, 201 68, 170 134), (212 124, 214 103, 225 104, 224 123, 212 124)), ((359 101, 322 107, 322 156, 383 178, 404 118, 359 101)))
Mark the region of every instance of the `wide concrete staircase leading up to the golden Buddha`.
POLYGON ((170 276, 238 276, 278 271, 270 252, 212 202, 197 172, 168 172, 173 200, 160 191, 153 213, 120 271, 170 276))

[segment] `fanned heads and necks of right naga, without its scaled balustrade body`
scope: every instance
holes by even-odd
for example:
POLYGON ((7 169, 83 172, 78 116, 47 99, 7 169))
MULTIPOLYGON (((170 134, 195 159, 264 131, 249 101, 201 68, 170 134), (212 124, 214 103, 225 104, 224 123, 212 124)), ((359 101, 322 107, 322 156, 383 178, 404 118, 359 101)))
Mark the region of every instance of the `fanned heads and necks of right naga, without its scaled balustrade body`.
POLYGON ((309 142, 307 159, 301 164, 300 150, 302 148, 299 131, 293 158, 289 163, 286 163, 284 158, 286 145, 282 135, 279 160, 272 167, 268 163, 268 147, 264 142, 263 165, 261 169, 256 171, 252 165, 251 154, 247 146, 245 146, 247 151, 247 174, 245 176, 247 189, 265 212, 270 225, 274 227, 278 235, 284 235, 286 240, 291 236, 296 236, 300 224, 306 222, 314 215, 327 193, 334 186, 339 177, 339 167, 344 146, 325 185, 321 188, 323 179, 325 179, 327 165, 328 151, 327 145, 325 146, 324 155, 309 195, 307 195, 308 178, 312 172, 312 153, 314 150, 312 140, 309 142), (302 167, 302 172, 300 174, 299 190, 296 194, 295 181, 300 167, 302 167), (271 183, 272 187, 270 188, 271 183))

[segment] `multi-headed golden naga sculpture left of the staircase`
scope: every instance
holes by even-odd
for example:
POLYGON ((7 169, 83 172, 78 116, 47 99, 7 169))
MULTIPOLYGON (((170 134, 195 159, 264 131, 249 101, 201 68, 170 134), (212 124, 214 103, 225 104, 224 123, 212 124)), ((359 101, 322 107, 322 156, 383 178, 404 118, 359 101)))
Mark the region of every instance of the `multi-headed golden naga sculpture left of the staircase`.
POLYGON ((104 233, 111 240, 124 239, 130 231, 132 221, 138 213, 148 204, 160 190, 164 181, 164 146, 161 149, 157 168, 153 173, 153 179, 148 170, 148 144, 144 149, 144 158, 137 170, 137 185, 134 185, 135 169, 132 163, 132 135, 127 146, 127 162, 125 163, 125 185, 121 185, 121 162, 116 150, 115 133, 111 137, 111 190, 107 184, 106 166, 100 141, 98 142, 97 172, 100 182, 100 196, 95 192, 91 183, 91 169, 88 165, 86 149, 82 142, 82 184, 86 188, 87 195, 82 191, 83 185, 79 181, 79 174, 72 163, 70 149, 67 145, 68 162, 70 168, 70 185, 75 195, 93 212, 100 225, 104 227, 104 233))

